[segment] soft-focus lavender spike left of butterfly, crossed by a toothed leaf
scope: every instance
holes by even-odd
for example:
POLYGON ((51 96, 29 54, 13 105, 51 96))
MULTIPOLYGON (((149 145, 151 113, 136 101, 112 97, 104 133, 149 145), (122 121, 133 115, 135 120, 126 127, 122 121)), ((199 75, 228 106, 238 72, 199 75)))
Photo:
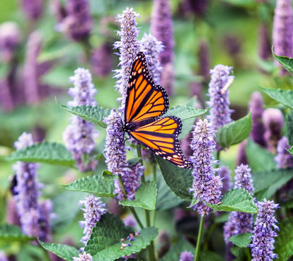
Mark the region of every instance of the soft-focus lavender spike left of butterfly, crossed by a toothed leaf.
MULTIPOLYGON (((68 93, 73 97, 73 101, 68 102, 68 106, 90 105, 95 106, 96 101, 94 95, 96 89, 92 84, 92 75, 84 68, 77 68, 75 75, 69 78, 74 87, 68 90, 68 93)), ((89 160, 84 160, 90 153, 94 151, 94 139, 99 133, 94 129, 94 124, 81 119, 78 116, 70 118, 71 124, 66 127, 63 132, 63 140, 66 147, 73 154, 73 159, 80 171, 94 170, 96 160, 89 157, 89 160)))

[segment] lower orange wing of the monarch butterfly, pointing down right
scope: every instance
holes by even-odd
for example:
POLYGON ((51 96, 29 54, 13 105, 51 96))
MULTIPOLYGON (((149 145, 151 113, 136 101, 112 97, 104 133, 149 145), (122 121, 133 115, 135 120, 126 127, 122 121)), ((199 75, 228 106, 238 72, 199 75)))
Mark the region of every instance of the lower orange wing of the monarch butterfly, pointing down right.
POLYGON ((144 126, 139 126, 135 130, 129 131, 129 134, 163 159, 180 168, 191 169, 192 165, 183 155, 178 140, 181 129, 180 118, 166 116, 144 126))

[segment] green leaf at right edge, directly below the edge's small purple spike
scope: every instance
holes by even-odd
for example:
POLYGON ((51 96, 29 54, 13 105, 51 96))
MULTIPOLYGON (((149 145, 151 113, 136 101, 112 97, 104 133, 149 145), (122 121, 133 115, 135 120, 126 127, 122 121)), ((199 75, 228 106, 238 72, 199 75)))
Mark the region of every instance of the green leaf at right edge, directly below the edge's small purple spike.
POLYGON ((292 169, 274 169, 253 173, 254 195, 261 201, 263 198, 269 199, 278 188, 284 186, 293 178, 292 169))

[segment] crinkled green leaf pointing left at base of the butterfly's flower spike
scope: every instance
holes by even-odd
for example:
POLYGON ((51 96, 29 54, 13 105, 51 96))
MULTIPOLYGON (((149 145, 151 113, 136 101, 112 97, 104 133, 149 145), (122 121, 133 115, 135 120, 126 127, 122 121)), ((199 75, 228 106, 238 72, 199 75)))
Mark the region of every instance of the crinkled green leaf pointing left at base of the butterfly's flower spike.
POLYGON ((77 179, 77 181, 73 181, 64 187, 68 190, 94 193, 98 197, 114 198, 115 196, 113 181, 105 180, 101 175, 86 176, 77 179))

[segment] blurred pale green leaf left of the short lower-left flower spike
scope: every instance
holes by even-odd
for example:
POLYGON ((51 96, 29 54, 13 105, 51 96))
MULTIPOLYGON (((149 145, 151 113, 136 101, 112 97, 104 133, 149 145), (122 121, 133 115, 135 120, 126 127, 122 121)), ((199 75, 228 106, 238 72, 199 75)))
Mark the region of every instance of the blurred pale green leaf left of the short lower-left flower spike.
POLYGON ((53 200, 53 213, 56 214, 56 219, 52 219, 54 231, 65 230, 74 221, 77 213, 80 212, 80 200, 85 200, 87 193, 79 191, 64 191, 53 200))

